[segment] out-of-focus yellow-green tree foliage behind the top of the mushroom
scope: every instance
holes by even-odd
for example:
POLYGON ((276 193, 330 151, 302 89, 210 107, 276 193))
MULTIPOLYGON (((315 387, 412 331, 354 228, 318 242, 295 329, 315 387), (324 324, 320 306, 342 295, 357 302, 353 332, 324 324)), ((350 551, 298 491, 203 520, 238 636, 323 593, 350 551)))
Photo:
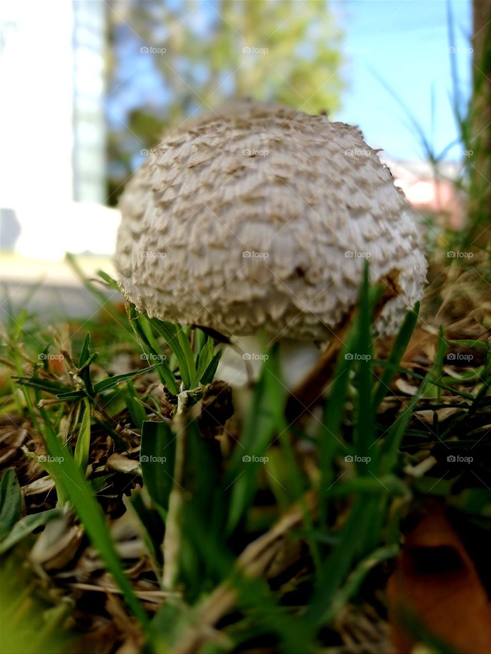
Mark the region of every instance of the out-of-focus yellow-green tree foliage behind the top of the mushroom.
POLYGON ((142 69, 155 86, 151 102, 132 101, 110 128, 111 204, 139 150, 181 116, 227 97, 308 113, 338 108, 342 33, 327 0, 113 0, 107 18, 111 103, 128 102, 132 86, 139 92, 142 69))

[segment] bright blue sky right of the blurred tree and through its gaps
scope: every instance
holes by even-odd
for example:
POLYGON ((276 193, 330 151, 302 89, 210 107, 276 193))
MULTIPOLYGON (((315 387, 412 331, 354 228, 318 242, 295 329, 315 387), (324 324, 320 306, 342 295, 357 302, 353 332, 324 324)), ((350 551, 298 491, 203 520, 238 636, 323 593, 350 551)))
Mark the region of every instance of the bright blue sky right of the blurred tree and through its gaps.
MULTIPOLYGON (((471 1, 450 0, 458 50, 452 55, 447 4, 446 0, 331 0, 336 24, 344 31, 341 47, 346 61, 341 74, 346 89, 342 108, 330 117, 358 125, 369 145, 382 148, 390 158, 414 161, 423 153, 405 112, 384 84, 424 129, 435 152, 457 137, 449 101, 450 56, 458 66, 465 103, 471 80, 471 1)), ((206 29, 209 15, 209 4, 200 3, 192 16, 194 28, 201 21, 206 29)), ((122 83, 107 100, 109 121, 119 128, 131 107, 162 106, 169 97, 155 75, 152 58, 136 58, 134 35, 128 36, 118 44, 122 83)), ((460 146, 454 146, 446 157, 456 160, 459 152, 460 146)))

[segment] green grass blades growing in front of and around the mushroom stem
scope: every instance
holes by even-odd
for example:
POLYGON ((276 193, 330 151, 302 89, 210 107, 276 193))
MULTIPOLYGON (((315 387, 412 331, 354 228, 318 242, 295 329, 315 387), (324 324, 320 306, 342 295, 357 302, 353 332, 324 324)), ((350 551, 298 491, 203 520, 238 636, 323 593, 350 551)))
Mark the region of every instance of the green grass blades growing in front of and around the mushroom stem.
MULTIPOLYGON (((112 283, 107 276, 105 280, 112 283)), ((218 619, 228 614, 233 619, 222 629, 222 644, 211 639, 203 651, 228 651, 254 638, 272 639, 278 651, 320 651, 323 630, 348 602, 356 602, 367 574, 397 555, 399 522, 413 502, 443 492, 477 521, 488 515, 491 505, 479 479, 456 493, 452 485, 457 478, 443 475, 443 488, 438 478, 425 477, 425 489, 424 479, 413 485, 405 473, 413 460, 407 445, 414 438, 426 447, 444 442, 453 448, 462 443, 454 437, 462 421, 487 410, 488 346, 468 339, 447 343, 441 332, 426 374, 402 368, 418 317, 416 306, 407 313, 388 356, 379 360, 374 357, 371 333, 377 297, 378 290, 369 286, 365 271, 357 317, 338 356, 321 421, 311 420, 300 431, 285 421, 287 392, 276 345, 255 385, 240 444, 232 441, 228 453, 200 430, 198 409, 219 358, 213 339, 200 330, 193 333, 149 320, 129 306, 126 316, 119 313, 115 322, 107 322, 83 340, 72 326, 77 338, 65 343, 63 370, 53 371, 50 359, 38 355, 56 352, 59 341, 57 345, 57 339, 49 339, 43 328, 36 331, 33 317, 18 316, 7 326, 4 355, 16 375, 3 391, 3 412, 16 411, 18 419, 30 421, 37 430, 48 455, 41 465, 56 485, 58 502, 56 507, 20 518, 20 487, 12 470, 5 473, 1 481, 5 533, 0 547, 4 552, 23 542, 28 547, 35 541, 34 530, 60 519, 60 511, 68 511, 83 525, 120 588, 128 612, 145 634, 147 651, 173 651, 194 642, 196 625, 206 623, 213 593, 223 588, 233 589, 233 597, 218 619), (35 341, 27 337, 27 325, 35 341), (129 347, 134 358, 143 350, 145 362, 158 363, 108 375, 105 370, 111 368, 118 346, 128 351, 132 329, 136 339, 129 347), (92 342, 98 343, 99 354, 92 342), (479 373, 460 375, 457 380, 445 377, 443 362, 450 346, 481 351, 484 362, 479 373), (416 379, 418 389, 387 428, 380 407, 401 374, 416 379), (166 387, 172 401, 166 415, 151 385, 138 390, 139 380, 144 379, 160 379, 166 387), (12 394, 15 388, 21 394, 12 394), (434 432, 436 436, 414 426, 416 409, 454 405, 455 398, 461 411, 434 432), (121 424, 126 425, 126 435, 121 424), (94 439, 101 435, 122 454, 135 444, 138 447, 142 489, 134 487, 128 508, 143 534, 156 582, 173 591, 153 616, 136 596, 128 564, 117 553, 98 500, 100 481, 87 467, 94 458, 94 439), (244 462, 244 456, 253 460, 244 462), (270 462, 264 464, 261 457, 270 462), (247 544, 268 534, 294 507, 299 511, 297 522, 283 537, 288 543, 305 543, 308 555, 304 574, 290 582, 290 591, 302 594, 302 606, 289 609, 283 593, 272 591, 263 576, 261 551, 240 561, 247 544)), ((482 436, 481 451, 489 440, 482 436)), ((468 445, 464 442, 462 447, 468 445)), ((481 474, 488 474, 485 467, 481 474)), ((209 628, 214 625, 211 619, 209 628)))

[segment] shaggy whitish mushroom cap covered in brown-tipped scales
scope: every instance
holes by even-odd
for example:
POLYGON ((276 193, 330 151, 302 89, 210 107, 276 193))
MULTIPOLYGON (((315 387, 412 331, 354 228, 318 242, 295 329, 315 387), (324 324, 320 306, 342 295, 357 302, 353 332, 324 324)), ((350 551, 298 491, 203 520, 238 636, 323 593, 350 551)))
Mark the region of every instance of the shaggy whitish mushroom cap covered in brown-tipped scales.
POLYGON ((359 129, 234 103, 168 133, 120 209, 122 291, 150 317, 246 336, 329 338, 371 279, 397 279, 378 327, 418 300, 418 225, 359 129))

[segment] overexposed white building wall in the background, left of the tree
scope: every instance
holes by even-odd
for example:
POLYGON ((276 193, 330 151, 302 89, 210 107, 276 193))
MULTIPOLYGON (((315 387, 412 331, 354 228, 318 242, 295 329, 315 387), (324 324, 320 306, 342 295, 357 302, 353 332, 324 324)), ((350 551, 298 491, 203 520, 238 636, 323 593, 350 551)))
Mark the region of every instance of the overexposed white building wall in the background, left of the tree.
POLYGON ((0 206, 20 222, 16 251, 111 252, 90 224, 105 201, 104 3, 4 0, 0 12, 0 206))

